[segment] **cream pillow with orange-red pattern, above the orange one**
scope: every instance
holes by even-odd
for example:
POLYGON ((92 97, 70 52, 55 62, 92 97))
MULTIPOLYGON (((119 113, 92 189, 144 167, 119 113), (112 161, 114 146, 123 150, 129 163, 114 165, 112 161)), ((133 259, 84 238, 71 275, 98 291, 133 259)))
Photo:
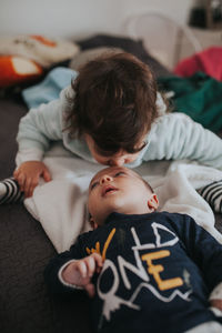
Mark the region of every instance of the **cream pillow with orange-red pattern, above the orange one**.
POLYGON ((48 39, 43 36, 17 36, 0 38, 1 56, 29 58, 43 68, 69 60, 79 52, 74 42, 48 39))

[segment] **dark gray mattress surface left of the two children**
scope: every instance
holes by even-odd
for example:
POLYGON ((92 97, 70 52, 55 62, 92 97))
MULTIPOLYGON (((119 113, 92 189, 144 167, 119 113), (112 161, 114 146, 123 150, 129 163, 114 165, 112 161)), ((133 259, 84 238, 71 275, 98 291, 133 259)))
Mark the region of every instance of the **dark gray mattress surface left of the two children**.
MULTIPOLYGON (((27 108, 0 100, 0 179, 14 169, 16 134, 27 108)), ((58 299, 48 293, 43 270, 56 255, 40 223, 22 204, 0 205, 0 332, 88 333, 89 300, 85 294, 58 299)))

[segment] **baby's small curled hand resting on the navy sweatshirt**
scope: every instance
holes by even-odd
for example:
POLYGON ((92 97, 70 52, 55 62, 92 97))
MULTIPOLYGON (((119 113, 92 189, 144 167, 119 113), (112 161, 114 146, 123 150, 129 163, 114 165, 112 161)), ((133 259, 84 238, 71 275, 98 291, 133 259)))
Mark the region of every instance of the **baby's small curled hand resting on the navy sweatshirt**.
POLYGON ((71 262, 62 272, 62 278, 65 282, 82 286, 85 289, 90 297, 94 296, 94 285, 91 283, 92 275, 102 270, 102 256, 98 253, 92 253, 81 260, 71 262))

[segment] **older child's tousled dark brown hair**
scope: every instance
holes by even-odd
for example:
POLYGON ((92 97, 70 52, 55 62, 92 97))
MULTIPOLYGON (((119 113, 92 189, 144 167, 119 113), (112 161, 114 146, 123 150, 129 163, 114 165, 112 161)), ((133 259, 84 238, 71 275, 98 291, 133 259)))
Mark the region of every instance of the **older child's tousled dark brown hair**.
POLYGON ((88 133, 98 152, 137 152, 158 117, 157 83, 149 67, 127 52, 104 53, 79 69, 68 130, 88 133))

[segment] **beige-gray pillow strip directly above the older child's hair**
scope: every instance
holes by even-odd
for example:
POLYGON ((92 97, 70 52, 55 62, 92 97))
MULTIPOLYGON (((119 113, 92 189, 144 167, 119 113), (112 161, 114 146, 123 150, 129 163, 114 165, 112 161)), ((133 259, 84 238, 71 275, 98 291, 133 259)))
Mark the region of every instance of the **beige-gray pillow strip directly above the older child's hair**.
POLYGON ((73 70, 78 70, 79 67, 81 67, 85 62, 99 57, 102 53, 108 53, 108 52, 123 52, 123 50, 117 48, 107 48, 107 47, 89 49, 79 52, 74 58, 72 58, 72 60, 69 63, 69 68, 73 70))

